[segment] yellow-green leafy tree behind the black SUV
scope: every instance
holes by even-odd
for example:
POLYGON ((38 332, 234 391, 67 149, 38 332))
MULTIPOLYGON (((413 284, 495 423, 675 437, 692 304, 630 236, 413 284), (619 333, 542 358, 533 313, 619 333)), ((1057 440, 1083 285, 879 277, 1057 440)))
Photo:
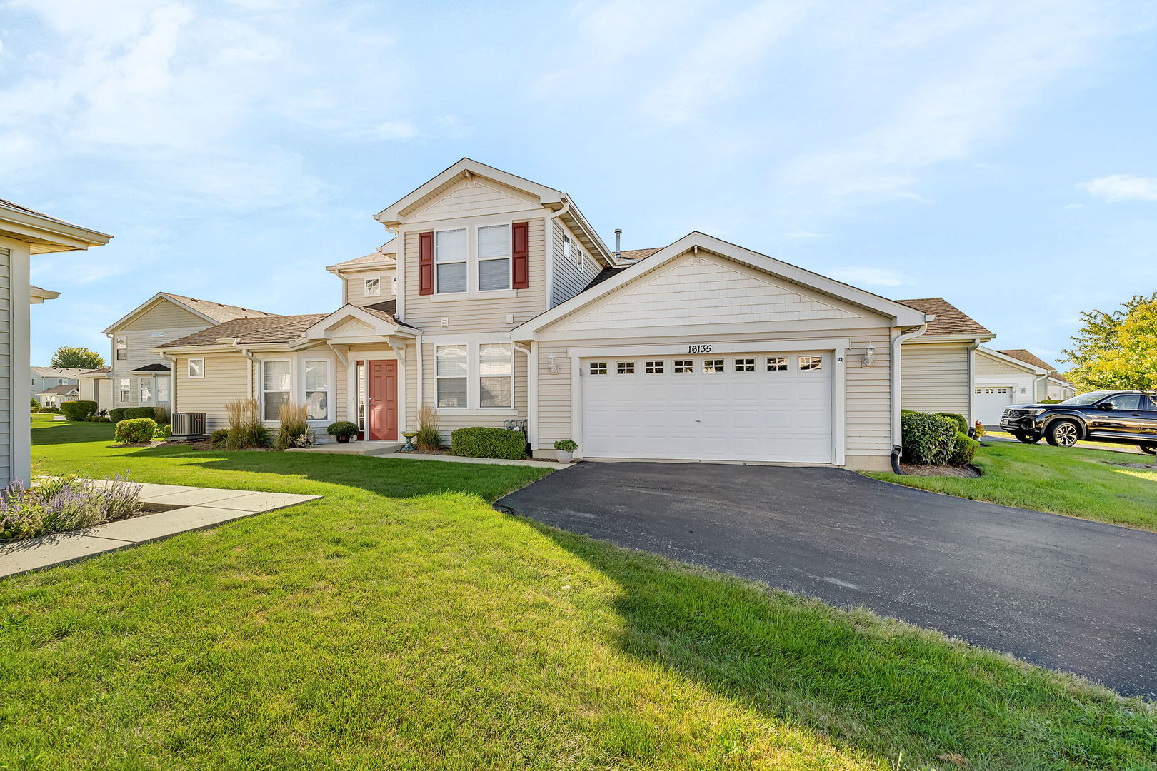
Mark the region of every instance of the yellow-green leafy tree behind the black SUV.
POLYGON ((1084 311, 1066 377, 1079 391, 1157 388, 1157 292, 1135 295, 1111 311, 1084 311))

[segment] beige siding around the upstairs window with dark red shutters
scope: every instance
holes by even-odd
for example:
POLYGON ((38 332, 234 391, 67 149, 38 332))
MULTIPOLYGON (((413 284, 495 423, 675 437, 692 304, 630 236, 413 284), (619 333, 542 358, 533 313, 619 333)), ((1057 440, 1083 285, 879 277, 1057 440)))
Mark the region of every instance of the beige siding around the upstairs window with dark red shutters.
MULTIPOLYGON (((541 313, 546 296, 545 220, 531 218, 526 222, 530 223, 528 232, 530 288, 518 289, 516 297, 487 297, 486 292, 464 292, 460 298, 450 295, 418 294, 420 231, 404 232, 400 238, 404 239, 403 283, 406 297, 403 316, 406 324, 419 329, 436 329, 440 334, 507 332, 541 313), (514 314, 513 323, 506 321, 507 313, 514 314), (448 320, 444 327, 442 319, 448 320)), ((436 223, 432 228, 437 229, 436 223)))

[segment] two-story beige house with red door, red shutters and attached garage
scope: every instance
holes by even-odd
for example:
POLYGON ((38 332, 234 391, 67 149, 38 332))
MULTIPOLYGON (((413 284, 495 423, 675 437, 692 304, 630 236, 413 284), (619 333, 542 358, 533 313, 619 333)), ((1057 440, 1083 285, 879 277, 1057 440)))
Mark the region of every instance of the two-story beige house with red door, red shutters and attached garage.
POLYGON ((397 442, 429 405, 447 436, 514 421, 537 457, 572 438, 585 458, 885 468, 901 406, 971 418, 974 353, 995 336, 942 298, 892 301, 701 232, 612 251, 566 193, 469 158, 376 218, 393 238, 326 268, 337 310, 148 346, 174 408, 212 430, 233 399, 271 427, 304 403, 323 439, 348 420, 397 442))

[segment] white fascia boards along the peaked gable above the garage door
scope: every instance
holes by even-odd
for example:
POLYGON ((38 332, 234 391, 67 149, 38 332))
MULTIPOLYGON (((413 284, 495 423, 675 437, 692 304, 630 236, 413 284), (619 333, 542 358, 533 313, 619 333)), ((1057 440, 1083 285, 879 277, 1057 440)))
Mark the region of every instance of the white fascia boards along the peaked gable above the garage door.
POLYGON ((885 318, 892 319, 891 326, 920 326, 926 324, 928 319, 923 312, 908 307, 902 303, 897 303, 896 301, 887 299, 886 297, 874 295, 872 292, 864 291, 863 289, 856 289, 855 287, 835 281, 834 279, 828 279, 827 276, 821 276, 818 273, 805 270, 795 265, 767 257, 766 254, 753 252, 750 249, 736 246, 735 244, 721 240, 714 236, 708 236, 707 233, 702 233, 697 230, 687 233, 673 244, 664 246, 647 259, 640 260, 635 265, 627 267, 621 273, 611 276, 603 283, 598 284, 594 290, 580 292, 570 299, 555 305, 548 311, 539 313, 529 321, 521 324, 510 331, 510 338, 514 340, 535 340, 536 333, 539 329, 557 321, 563 316, 568 316, 577 311, 580 307, 599 299, 600 297, 610 295, 625 283, 634 281, 639 276, 650 273, 651 270, 658 269, 663 265, 666 265, 671 260, 683 255, 697 246, 699 249, 707 250, 708 252, 714 252, 716 254, 721 254, 722 257, 736 260, 737 262, 749 265, 753 268, 781 276, 788 281, 793 281, 823 294, 838 297, 854 305, 860 305, 861 307, 875 311, 885 318))

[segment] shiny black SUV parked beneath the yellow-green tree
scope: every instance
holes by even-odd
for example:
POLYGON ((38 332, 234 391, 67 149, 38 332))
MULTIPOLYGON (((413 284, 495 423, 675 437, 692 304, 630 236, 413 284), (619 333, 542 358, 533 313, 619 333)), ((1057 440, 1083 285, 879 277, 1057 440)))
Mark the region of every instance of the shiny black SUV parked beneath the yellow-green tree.
POLYGON ((1056 447, 1081 439, 1134 444, 1157 454, 1157 396, 1143 391, 1092 391, 1059 405, 1012 405, 1001 428, 1025 444, 1044 437, 1056 447))

